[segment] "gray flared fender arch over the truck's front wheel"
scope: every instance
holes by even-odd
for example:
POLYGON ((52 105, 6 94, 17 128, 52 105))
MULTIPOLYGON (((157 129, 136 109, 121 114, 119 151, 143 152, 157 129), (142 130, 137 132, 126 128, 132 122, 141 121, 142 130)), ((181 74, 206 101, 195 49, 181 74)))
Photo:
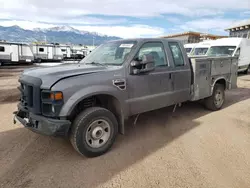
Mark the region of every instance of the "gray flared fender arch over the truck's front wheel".
POLYGON ((114 88, 112 86, 104 86, 104 85, 95 85, 95 86, 89 86, 85 87, 76 93, 74 93, 63 105, 59 116, 60 117, 67 117, 71 114, 73 109, 76 107, 76 105, 81 102, 83 99, 86 99, 88 97, 94 96, 94 95, 111 95, 115 97, 121 105, 121 110, 124 113, 124 116, 126 117, 128 113, 128 108, 125 105, 126 100, 126 91, 121 91, 117 88, 114 88))

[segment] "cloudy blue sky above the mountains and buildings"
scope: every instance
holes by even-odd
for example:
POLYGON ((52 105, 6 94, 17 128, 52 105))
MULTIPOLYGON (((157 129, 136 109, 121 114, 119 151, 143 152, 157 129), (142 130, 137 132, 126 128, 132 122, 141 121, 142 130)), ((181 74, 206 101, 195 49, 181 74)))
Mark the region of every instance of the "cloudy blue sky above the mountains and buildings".
POLYGON ((132 37, 183 31, 225 35, 250 19, 249 0, 0 0, 0 25, 24 29, 67 25, 79 30, 132 37))

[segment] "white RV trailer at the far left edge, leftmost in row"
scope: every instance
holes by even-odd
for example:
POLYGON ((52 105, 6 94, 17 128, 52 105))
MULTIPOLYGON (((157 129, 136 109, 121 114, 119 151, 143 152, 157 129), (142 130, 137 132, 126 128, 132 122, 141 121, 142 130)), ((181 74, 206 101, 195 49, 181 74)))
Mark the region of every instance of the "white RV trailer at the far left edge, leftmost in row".
POLYGON ((0 66, 12 63, 33 63, 34 55, 26 43, 0 42, 0 66))

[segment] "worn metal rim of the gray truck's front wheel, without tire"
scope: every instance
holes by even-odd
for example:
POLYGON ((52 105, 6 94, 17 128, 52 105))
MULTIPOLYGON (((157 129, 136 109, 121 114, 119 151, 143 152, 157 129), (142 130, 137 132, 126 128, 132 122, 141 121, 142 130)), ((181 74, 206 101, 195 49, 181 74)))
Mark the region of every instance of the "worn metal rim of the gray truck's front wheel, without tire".
POLYGON ((109 140, 111 129, 109 123, 104 119, 95 120, 87 129, 85 138, 87 144, 92 148, 102 147, 109 140))

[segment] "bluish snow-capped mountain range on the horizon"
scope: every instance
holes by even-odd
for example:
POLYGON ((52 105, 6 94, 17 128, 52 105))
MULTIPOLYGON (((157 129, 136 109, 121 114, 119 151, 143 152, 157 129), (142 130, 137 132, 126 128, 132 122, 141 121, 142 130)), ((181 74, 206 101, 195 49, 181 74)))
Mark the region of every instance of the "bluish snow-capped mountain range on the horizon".
POLYGON ((99 45, 105 41, 117 40, 119 37, 101 35, 96 32, 80 31, 69 26, 58 26, 48 29, 35 28, 26 30, 19 26, 0 26, 0 40, 9 42, 37 42, 47 41, 48 43, 61 44, 84 44, 99 45))

